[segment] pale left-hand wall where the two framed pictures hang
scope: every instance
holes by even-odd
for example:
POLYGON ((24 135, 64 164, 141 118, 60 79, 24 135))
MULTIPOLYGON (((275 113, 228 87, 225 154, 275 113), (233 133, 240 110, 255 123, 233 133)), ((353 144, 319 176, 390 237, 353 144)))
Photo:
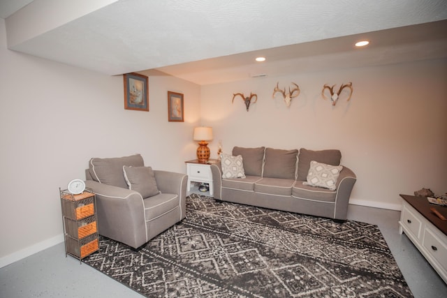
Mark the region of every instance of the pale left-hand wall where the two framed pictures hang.
POLYGON ((62 240, 59 187, 84 178, 91 157, 140 153, 186 172, 194 157, 200 86, 149 77, 149 112, 124 110, 122 76, 6 50, 0 19, 0 267, 62 240), (184 123, 168 122, 167 91, 184 94, 184 123))

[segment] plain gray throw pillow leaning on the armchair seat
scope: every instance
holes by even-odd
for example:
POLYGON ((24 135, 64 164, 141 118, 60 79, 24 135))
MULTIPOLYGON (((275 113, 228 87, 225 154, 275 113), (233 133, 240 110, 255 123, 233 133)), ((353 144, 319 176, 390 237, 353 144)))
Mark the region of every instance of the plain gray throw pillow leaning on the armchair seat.
POLYGON ((140 193, 142 198, 149 198, 160 193, 156 186, 152 167, 123 166, 124 179, 132 191, 140 193))

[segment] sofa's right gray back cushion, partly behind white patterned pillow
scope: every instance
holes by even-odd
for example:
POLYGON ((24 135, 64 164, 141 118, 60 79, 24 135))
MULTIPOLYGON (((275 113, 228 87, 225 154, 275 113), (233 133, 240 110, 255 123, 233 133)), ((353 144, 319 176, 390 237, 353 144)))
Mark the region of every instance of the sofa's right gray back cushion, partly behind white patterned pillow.
POLYGON ((311 161, 325 163, 327 165, 339 165, 341 159, 342 153, 336 149, 313 151, 301 148, 300 155, 298 156, 297 180, 306 181, 311 161))

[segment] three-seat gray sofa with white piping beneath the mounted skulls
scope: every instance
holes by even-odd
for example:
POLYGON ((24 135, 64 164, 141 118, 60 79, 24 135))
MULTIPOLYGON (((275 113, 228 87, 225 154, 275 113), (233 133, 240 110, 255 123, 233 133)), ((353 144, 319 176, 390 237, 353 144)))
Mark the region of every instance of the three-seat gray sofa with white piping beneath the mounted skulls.
POLYGON ((349 197, 356 183, 353 171, 343 166, 335 184, 330 186, 332 189, 306 185, 317 165, 339 165, 339 150, 234 147, 232 158, 236 156, 242 157, 244 178, 223 177, 222 163, 230 163, 228 160, 211 165, 215 199, 346 220, 349 197), (313 171, 309 171, 311 168, 313 171))

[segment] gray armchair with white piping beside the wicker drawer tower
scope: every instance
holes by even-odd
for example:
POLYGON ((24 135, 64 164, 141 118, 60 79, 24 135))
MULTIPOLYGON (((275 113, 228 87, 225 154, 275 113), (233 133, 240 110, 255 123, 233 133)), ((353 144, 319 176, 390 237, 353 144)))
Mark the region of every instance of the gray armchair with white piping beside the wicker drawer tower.
POLYGON ((185 217, 186 174, 145 167, 140 154, 91 158, 85 172, 105 237, 138 248, 185 217))

